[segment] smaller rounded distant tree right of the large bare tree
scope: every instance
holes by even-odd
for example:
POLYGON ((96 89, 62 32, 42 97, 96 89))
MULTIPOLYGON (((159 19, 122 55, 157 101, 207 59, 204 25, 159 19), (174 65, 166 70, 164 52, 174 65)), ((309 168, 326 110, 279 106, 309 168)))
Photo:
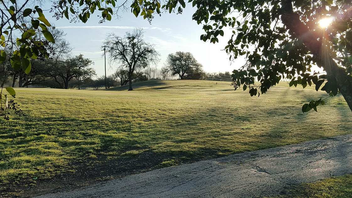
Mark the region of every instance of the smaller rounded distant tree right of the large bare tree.
POLYGON ((166 58, 166 65, 172 72, 172 75, 178 74, 181 80, 184 76, 191 73, 193 70, 199 70, 202 65, 197 62, 190 52, 170 53, 166 58))

